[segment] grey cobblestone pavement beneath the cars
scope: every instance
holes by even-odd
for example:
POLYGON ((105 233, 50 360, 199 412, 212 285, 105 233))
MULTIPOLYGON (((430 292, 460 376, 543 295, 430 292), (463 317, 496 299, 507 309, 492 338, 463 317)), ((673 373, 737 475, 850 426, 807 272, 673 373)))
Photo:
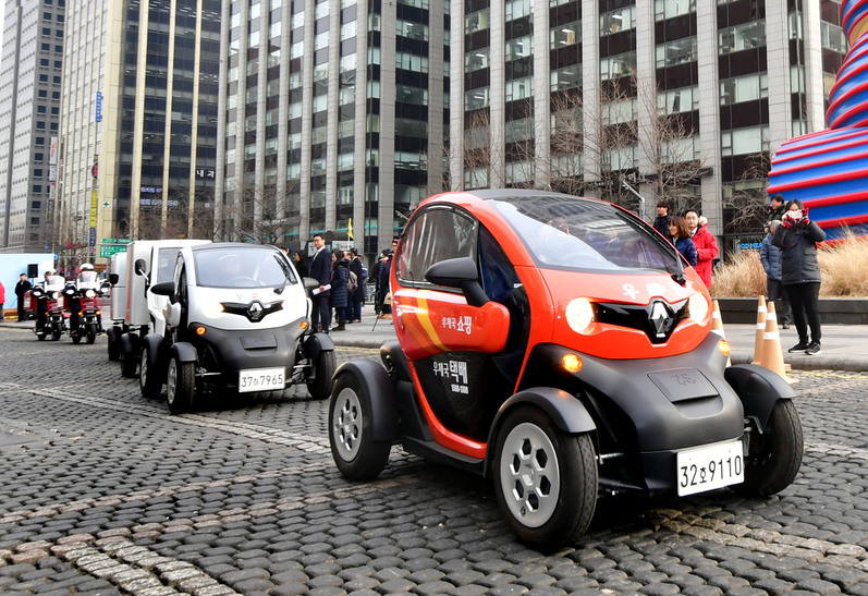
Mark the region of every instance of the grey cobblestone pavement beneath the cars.
POLYGON ((793 374, 806 452, 782 495, 602 501, 543 555, 475 476, 395 448, 345 482, 303 388, 172 416, 105 337, 0 329, 0 353, 2 593, 868 594, 865 373, 793 374))

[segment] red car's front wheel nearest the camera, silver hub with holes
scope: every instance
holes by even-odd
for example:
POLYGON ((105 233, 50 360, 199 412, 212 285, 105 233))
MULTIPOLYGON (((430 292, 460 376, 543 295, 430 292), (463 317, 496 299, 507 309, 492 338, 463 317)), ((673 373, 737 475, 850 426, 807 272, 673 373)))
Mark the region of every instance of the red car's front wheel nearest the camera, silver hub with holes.
POLYGON ((518 408, 503 421, 493 476, 501 512, 536 549, 575 543, 594 519, 598 471, 590 436, 562 431, 537 408, 518 408))

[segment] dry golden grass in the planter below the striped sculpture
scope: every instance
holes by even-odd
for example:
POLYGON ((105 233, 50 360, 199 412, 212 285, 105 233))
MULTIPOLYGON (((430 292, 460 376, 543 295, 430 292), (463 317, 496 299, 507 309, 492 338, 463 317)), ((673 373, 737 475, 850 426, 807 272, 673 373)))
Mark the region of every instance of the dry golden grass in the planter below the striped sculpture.
MULTIPOLYGON (((868 297, 868 239, 852 238, 819 251, 821 297, 868 297)), ((736 254, 714 271, 714 297, 754 297, 766 294, 766 272, 759 251, 736 254)))

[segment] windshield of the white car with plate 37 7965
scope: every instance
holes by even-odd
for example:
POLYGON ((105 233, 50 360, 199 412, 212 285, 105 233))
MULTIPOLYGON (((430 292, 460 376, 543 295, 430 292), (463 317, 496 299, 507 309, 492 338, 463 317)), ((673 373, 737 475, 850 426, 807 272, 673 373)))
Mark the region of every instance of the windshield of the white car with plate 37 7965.
POLYGON ((194 251, 197 285, 282 288, 297 280, 286 257, 270 246, 232 246, 194 251))

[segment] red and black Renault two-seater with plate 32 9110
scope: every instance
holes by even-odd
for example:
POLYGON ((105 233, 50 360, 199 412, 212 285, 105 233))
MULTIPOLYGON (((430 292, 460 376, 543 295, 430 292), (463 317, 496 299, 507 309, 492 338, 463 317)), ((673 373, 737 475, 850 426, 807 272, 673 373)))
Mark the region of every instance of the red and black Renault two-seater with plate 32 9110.
POLYGON ((702 281, 618 206, 436 195, 391 275, 398 341, 382 365, 335 373, 329 438, 350 479, 377 476, 399 442, 491 477, 517 536, 550 549, 580 536, 604 496, 763 496, 798 472, 790 385, 726 367, 702 281))

